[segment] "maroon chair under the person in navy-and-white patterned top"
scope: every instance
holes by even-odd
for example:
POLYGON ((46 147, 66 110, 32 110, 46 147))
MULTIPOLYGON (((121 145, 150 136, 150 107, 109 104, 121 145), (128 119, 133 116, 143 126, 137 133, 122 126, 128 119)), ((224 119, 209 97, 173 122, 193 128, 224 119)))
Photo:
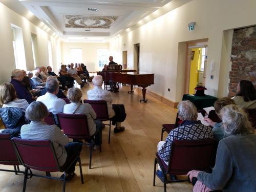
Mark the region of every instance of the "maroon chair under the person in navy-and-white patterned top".
POLYGON ((153 185, 155 186, 157 163, 164 174, 164 192, 166 192, 166 183, 188 181, 188 179, 167 180, 168 174, 186 175, 192 169, 208 171, 213 157, 214 145, 214 139, 175 140, 172 144, 168 165, 156 153, 153 185))

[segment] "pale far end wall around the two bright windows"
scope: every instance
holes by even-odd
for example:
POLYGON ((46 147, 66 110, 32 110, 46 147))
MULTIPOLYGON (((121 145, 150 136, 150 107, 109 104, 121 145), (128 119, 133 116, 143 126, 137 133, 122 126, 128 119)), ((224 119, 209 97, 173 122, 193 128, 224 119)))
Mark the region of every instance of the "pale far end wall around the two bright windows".
MULTIPOLYGON (((82 63, 89 72, 98 71, 98 49, 109 49, 109 43, 72 43, 61 42, 62 64, 68 65, 72 61, 70 49, 82 49, 82 63)), ((108 64, 108 63, 106 63, 108 64)), ((101 69, 100 69, 101 70, 101 69)))

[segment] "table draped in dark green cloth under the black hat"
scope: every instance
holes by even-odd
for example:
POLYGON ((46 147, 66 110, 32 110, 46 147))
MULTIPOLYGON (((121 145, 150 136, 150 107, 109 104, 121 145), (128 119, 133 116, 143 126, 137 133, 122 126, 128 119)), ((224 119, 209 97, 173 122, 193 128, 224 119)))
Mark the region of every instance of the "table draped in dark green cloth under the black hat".
POLYGON ((208 106, 214 106, 215 101, 218 100, 217 97, 205 95, 205 96, 196 96, 192 94, 184 94, 182 100, 189 100, 193 102, 198 110, 207 108, 208 106))

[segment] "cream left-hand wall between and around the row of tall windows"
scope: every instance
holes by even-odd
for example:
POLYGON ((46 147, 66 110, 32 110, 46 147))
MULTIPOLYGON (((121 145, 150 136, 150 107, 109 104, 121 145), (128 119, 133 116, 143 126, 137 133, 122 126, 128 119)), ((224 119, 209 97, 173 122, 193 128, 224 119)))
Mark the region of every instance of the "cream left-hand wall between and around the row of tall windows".
MULTIPOLYGON (((47 32, 33 25, 25 17, 20 16, 16 12, 12 11, 4 4, 0 3, 0 83, 10 82, 11 72, 15 69, 15 59, 12 46, 13 33, 11 30, 11 24, 14 24, 22 28, 23 41, 25 48, 26 66, 27 70, 34 69, 33 53, 31 33, 37 35, 37 49, 38 49, 38 66, 49 65, 48 57, 48 40, 51 41, 52 46, 60 46, 58 39, 49 36, 47 32)), ((57 70, 56 53, 55 48, 53 50, 53 70, 57 70)), ((57 72, 57 71, 56 71, 57 72)))

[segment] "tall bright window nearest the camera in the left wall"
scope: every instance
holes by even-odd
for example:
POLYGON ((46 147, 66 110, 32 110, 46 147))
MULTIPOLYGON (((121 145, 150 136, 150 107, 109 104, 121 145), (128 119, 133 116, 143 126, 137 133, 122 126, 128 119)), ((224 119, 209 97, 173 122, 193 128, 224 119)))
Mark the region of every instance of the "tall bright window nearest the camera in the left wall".
POLYGON ((22 28, 11 24, 11 29, 13 32, 12 45, 15 67, 16 69, 23 69, 27 71, 22 28))

